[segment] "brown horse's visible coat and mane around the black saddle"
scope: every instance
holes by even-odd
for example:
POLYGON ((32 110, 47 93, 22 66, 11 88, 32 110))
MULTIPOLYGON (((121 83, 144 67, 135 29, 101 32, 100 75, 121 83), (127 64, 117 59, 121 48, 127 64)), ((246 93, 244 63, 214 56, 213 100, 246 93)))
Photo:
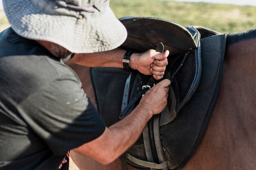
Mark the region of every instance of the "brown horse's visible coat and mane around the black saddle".
MULTIPOLYGON (((95 104, 89 68, 69 64, 95 104)), ((256 29, 228 35, 220 91, 204 136, 182 170, 256 170, 256 29)), ((81 170, 121 170, 72 152, 81 170)), ((128 167, 129 170, 134 170, 128 167)))

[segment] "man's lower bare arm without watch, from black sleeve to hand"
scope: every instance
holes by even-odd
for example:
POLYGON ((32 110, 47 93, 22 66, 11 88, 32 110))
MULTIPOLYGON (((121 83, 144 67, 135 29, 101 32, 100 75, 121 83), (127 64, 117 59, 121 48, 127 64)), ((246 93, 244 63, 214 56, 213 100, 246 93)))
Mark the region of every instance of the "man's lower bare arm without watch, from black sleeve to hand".
POLYGON ((125 119, 106 128, 97 139, 83 144, 74 151, 92 157, 102 164, 108 164, 137 141, 147 121, 160 113, 167 104, 168 79, 155 85, 142 97, 141 102, 125 119))

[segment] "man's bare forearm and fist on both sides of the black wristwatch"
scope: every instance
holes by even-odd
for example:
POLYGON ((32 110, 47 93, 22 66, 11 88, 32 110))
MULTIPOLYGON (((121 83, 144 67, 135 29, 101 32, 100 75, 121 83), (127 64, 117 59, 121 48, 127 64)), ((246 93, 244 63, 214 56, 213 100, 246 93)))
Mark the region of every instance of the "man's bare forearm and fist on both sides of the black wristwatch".
MULTIPOLYGON (((126 53, 123 49, 114 49, 99 53, 75 54, 69 62, 90 67, 117 67, 123 68, 123 58, 126 53)), ((164 75, 169 51, 158 53, 149 50, 144 53, 133 53, 130 57, 130 67, 145 75, 152 75, 161 79, 164 75)))

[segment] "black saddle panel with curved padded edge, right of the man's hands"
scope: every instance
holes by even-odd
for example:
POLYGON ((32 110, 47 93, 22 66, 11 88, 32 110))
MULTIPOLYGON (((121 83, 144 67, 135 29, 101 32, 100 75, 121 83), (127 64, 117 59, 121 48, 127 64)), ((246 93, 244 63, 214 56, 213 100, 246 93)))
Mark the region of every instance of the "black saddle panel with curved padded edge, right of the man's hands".
POLYGON ((201 47, 170 56, 164 78, 171 80, 168 106, 160 114, 160 126, 173 121, 180 109, 191 99, 202 75, 201 47))

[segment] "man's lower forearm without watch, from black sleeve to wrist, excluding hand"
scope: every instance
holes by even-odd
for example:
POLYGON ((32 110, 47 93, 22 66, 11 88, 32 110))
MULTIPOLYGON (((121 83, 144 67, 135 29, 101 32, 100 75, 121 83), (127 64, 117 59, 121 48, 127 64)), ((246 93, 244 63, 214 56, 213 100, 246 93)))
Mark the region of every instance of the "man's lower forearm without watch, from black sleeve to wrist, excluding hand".
POLYGON ((152 115, 150 108, 139 104, 124 120, 106 128, 99 138, 74 150, 102 164, 111 163, 137 141, 152 115))

